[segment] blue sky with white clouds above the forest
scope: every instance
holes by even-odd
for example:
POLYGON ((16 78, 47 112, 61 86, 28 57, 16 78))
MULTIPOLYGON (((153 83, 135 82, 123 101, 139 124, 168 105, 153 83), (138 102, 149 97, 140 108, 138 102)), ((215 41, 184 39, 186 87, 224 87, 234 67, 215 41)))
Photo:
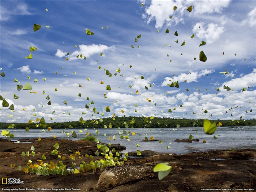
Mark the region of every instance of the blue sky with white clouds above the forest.
POLYGON ((254 0, 1 0, 0 36, 1 122, 256 117, 254 0))

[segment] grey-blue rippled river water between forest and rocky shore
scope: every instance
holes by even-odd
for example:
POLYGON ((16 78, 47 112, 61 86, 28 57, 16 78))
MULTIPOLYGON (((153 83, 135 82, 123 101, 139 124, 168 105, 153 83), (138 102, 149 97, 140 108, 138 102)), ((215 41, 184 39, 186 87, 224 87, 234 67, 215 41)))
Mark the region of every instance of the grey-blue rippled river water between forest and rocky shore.
MULTIPOLYGON (((0 130, 2 131, 2 130, 0 130)), ((245 148, 256 148, 256 127, 218 127, 214 135, 217 139, 213 139, 214 135, 207 135, 204 133, 203 128, 128 128, 128 129, 87 129, 86 131, 79 132, 79 129, 52 129, 45 132, 42 129, 30 129, 29 132, 25 129, 9 129, 10 133, 15 135, 12 141, 17 141, 19 139, 35 139, 41 138, 53 138, 53 135, 57 139, 71 139, 78 140, 86 136, 86 132, 91 135, 95 135, 102 143, 113 143, 121 144, 126 147, 123 152, 130 151, 143 151, 143 150, 153 150, 165 153, 175 153, 175 154, 185 154, 190 152, 198 151, 211 151, 211 150, 229 150, 233 149, 245 149, 245 148), (124 133, 123 131, 127 133, 124 133), (77 138, 73 138, 70 133, 75 131, 77 138), (98 131, 99 133, 96 133, 98 131), (135 135, 132 135, 132 132, 135 135), (105 134, 106 133, 106 134, 105 134), (120 134, 121 133, 121 134, 120 134), (188 139, 189 135, 193 135, 193 139, 199 139, 199 142, 174 142, 175 139, 188 139), (106 136, 104 136, 106 135, 106 136), (124 139, 120 136, 123 135, 124 139), (219 136, 218 136, 219 135, 219 136), (111 140, 109 137, 111 136, 111 140), (113 139, 116 137, 116 140, 113 139), (125 139, 128 136, 130 141, 125 139), (150 139, 151 136, 154 139, 162 140, 154 142, 141 142, 145 139, 145 136, 150 139), (206 140, 206 143, 203 143, 206 140), (137 147, 139 144, 140 147, 137 147), (167 146, 170 146, 167 149, 167 146)), ((4 138, 1 136, 1 138, 4 138)))

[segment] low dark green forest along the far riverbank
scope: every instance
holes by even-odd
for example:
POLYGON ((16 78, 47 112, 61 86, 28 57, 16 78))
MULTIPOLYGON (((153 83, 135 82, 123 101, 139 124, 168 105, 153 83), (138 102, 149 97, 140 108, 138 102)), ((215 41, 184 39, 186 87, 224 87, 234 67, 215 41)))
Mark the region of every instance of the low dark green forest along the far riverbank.
MULTIPOLYGON (((211 122, 216 122, 219 127, 252 127, 256 126, 256 120, 210 120, 211 122)), ((79 121, 68 121, 63 123, 46 123, 46 127, 51 127, 52 129, 101 129, 101 128, 179 128, 179 127, 203 127, 204 119, 186 119, 186 118, 160 118, 160 117, 138 117, 138 116, 123 116, 123 117, 108 117, 108 118, 98 118, 93 120, 82 120, 79 121)), ((7 129, 10 125, 17 129, 35 129, 41 128, 39 123, 0 123, 1 129, 7 129)), ((10 127, 9 127, 10 128, 10 127)))

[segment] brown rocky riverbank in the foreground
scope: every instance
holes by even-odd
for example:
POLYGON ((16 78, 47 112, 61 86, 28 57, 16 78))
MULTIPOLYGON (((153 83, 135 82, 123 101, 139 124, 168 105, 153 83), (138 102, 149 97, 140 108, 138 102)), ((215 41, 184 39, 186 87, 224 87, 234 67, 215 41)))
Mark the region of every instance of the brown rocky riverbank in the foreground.
MULTIPOLYGON (((38 189, 38 191, 139 191, 139 192, 167 192, 167 191, 201 191, 201 189, 254 189, 256 190, 256 149, 235 150, 235 151, 208 151, 199 153, 189 153, 185 155, 176 154, 157 154, 144 158, 127 157, 127 162, 121 167, 109 167, 105 172, 96 171, 94 173, 79 173, 68 176, 50 175, 37 176, 36 174, 23 173, 23 168, 28 160, 33 163, 40 160, 42 154, 46 159, 44 162, 59 162, 57 155, 51 155, 55 143, 59 143, 58 153, 67 157, 63 160, 64 165, 72 166, 72 162, 79 165, 82 161, 89 163, 91 160, 102 158, 95 155, 97 143, 74 140, 41 139, 14 143, 5 139, 0 139, 0 177, 18 178, 23 184, 1 185, 1 191, 18 189, 29 190, 38 189), (24 151, 31 152, 31 146, 34 147, 34 157, 32 155, 23 157, 24 151), (68 158, 75 151, 80 152, 80 158, 75 160, 68 158), (85 157, 92 155, 93 159, 85 157), (158 180, 157 173, 154 173, 153 167, 157 163, 167 162, 173 167, 169 176, 158 180), (14 168, 11 164, 15 163, 14 168), (17 169, 21 166, 21 171, 17 169), (119 169, 119 170, 115 170, 119 169), (132 170, 132 171, 131 171, 132 170), (143 172, 143 170, 148 170, 143 172), (107 172, 107 173, 106 173, 107 172), (109 174, 109 180, 100 182, 99 178, 103 173, 109 174), (122 174, 120 174, 122 173, 122 174), (120 175, 115 175, 120 174, 120 175), (111 180, 118 177, 122 180, 111 180), (46 190, 43 190, 46 189, 46 190), (71 189, 71 190, 69 190, 71 189)), ((108 146, 116 151, 123 149, 120 145, 108 146)), ((124 157, 124 156, 123 156, 124 157)), ((202 190, 202 191, 203 191, 202 190)), ((220 190, 219 190, 220 191, 220 190)), ((252 191, 252 190, 251 190, 252 191)))

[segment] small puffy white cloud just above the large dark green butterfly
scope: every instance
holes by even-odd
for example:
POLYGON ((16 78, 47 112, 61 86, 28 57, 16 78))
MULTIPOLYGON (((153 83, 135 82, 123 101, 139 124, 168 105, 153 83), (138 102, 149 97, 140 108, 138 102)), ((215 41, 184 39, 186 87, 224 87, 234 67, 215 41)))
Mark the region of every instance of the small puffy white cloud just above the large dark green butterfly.
POLYGON ((223 26, 214 23, 209 23, 206 29, 204 22, 198 22, 193 27, 193 33, 196 33, 196 36, 200 39, 206 39, 207 44, 217 41, 224 31, 223 26))

